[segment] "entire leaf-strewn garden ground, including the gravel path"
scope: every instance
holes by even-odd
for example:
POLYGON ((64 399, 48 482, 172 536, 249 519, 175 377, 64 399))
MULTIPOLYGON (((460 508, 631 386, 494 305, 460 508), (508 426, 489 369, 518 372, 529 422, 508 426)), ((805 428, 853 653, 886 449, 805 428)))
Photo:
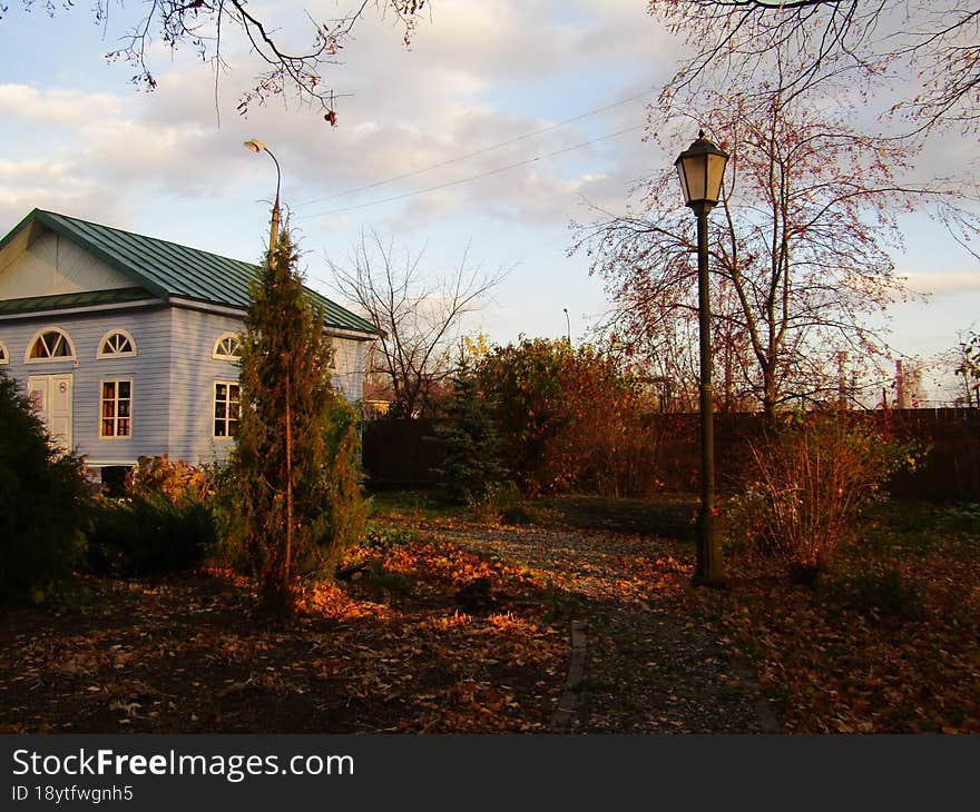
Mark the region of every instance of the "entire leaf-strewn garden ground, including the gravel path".
POLYGON ((980 730, 976 507, 893 505, 811 586, 731 555, 712 591, 684 501, 380 502, 361 577, 286 630, 222 573, 0 614, 0 732, 546 732, 569 691, 572 733, 980 730))

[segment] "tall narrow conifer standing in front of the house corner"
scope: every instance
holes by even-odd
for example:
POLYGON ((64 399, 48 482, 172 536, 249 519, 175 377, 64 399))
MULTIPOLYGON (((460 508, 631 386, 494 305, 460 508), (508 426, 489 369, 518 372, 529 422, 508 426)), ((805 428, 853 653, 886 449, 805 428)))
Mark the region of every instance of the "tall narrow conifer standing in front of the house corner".
POLYGON ((252 286, 233 457, 238 541, 259 610, 277 618, 294 613, 304 582, 330 573, 357 531, 339 527, 337 512, 356 514, 361 504, 356 487, 337 487, 352 476, 337 464, 351 466, 356 455, 336 453, 351 442, 346 429, 340 444, 331 439, 341 397, 331 382, 333 348, 296 261, 284 232, 252 286))

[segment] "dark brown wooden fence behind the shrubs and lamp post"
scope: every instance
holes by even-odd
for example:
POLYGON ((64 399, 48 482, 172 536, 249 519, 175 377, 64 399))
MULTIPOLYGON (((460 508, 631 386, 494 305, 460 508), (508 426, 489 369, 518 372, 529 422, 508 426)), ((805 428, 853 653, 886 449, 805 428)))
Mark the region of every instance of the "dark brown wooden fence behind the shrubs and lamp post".
MULTIPOLYGON (((852 413, 861 419, 885 423, 899 436, 915 438, 929 454, 912 473, 890 485, 899 497, 980 502, 980 409, 890 409, 852 413)), ((664 487, 697 489, 698 416, 651 415, 663 428, 650 464, 664 487)), ((431 487, 433 468, 442 462, 434 439, 437 420, 379 419, 364 424, 364 468, 374 487, 431 487)), ((737 486, 751 461, 752 444, 763 433, 758 414, 715 416, 715 467, 721 489, 737 486)))

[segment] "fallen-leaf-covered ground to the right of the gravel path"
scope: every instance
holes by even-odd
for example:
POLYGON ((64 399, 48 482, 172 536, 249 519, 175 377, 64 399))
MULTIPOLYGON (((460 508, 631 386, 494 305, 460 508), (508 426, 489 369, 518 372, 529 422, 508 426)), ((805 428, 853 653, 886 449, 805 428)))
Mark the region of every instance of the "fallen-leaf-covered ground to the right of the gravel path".
POLYGON ((729 563, 693 608, 787 732, 980 733, 980 506, 890 504, 808 586, 729 563))

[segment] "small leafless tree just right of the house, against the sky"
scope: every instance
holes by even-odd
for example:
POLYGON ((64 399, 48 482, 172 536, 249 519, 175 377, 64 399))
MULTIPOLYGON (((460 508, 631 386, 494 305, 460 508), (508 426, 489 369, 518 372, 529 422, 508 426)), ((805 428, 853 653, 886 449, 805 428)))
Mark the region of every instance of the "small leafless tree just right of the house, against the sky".
POLYGON ((480 309, 508 273, 471 266, 468 247, 453 273, 430 276, 423 256, 398 257, 393 240, 372 230, 362 232, 346 264, 327 258, 335 290, 381 329, 369 374, 391 385, 389 414, 395 417, 432 413, 432 396, 452 373, 463 317, 480 309))

